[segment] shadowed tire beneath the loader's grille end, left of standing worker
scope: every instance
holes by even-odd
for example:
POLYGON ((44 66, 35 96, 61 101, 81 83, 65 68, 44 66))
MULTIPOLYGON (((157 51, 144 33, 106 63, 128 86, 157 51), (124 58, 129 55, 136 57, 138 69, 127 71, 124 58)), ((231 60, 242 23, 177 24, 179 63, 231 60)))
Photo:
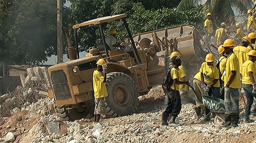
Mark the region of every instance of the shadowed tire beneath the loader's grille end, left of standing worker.
POLYGON ((85 105, 83 103, 79 103, 77 108, 67 110, 65 106, 55 107, 55 111, 57 116, 60 117, 61 121, 75 121, 82 118, 87 117, 88 114, 93 114, 94 107, 86 106, 81 108, 81 105, 85 105))

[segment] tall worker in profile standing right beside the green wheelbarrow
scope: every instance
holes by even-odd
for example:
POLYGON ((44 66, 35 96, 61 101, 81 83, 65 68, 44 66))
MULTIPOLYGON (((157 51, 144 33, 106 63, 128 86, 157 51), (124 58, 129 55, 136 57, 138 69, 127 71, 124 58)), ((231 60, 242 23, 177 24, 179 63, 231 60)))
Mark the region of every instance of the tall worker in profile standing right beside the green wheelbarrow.
POLYGON ((238 127, 239 121, 239 90, 241 88, 239 75, 239 60, 233 53, 235 42, 232 39, 227 39, 223 43, 225 53, 228 54, 226 69, 224 71, 224 86, 225 86, 225 123, 222 127, 230 129, 238 127))

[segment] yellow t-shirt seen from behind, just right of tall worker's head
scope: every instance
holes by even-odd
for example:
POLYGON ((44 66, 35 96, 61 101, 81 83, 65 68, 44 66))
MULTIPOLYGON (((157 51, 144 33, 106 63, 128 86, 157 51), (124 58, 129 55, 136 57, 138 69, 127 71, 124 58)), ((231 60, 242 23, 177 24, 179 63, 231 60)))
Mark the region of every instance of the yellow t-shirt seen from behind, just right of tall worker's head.
POLYGON ((241 74, 242 73, 242 65, 246 60, 249 59, 248 52, 250 52, 250 50, 244 46, 235 46, 233 48, 233 52, 239 59, 239 69, 240 69, 240 74, 241 74))

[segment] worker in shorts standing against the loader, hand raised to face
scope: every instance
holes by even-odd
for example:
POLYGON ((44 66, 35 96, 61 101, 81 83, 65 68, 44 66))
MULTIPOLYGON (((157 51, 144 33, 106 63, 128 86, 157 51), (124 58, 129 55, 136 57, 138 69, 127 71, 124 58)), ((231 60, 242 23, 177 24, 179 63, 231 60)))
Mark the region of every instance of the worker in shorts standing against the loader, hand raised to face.
POLYGON ((94 123, 100 121, 100 115, 105 114, 105 97, 108 96, 106 89, 106 61, 99 59, 97 62, 97 69, 93 73, 93 87, 94 87, 94 123))

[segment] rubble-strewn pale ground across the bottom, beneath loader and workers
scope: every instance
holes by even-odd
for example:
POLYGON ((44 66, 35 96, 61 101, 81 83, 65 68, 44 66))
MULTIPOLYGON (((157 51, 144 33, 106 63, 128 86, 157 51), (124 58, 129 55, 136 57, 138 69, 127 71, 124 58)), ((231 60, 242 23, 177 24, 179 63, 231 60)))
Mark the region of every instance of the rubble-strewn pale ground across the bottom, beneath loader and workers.
POLYGON ((185 102, 178 117, 178 122, 183 124, 162 126, 160 121, 164 109, 164 93, 160 86, 154 87, 147 95, 139 97, 136 113, 102 118, 100 135, 92 135, 93 119, 58 121, 54 101, 46 97, 23 108, 19 113, 4 117, 0 125, 0 142, 5 143, 6 134, 12 132, 15 135, 15 141, 12 139, 12 142, 15 143, 256 143, 256 122, 243 122, 242 101, 239 127, 228 130, 218 129, 213 119, 201 123, 201 119, 196 117, 194 104, 185 102), (56 128, 49 129, 49 126, 56 128))

